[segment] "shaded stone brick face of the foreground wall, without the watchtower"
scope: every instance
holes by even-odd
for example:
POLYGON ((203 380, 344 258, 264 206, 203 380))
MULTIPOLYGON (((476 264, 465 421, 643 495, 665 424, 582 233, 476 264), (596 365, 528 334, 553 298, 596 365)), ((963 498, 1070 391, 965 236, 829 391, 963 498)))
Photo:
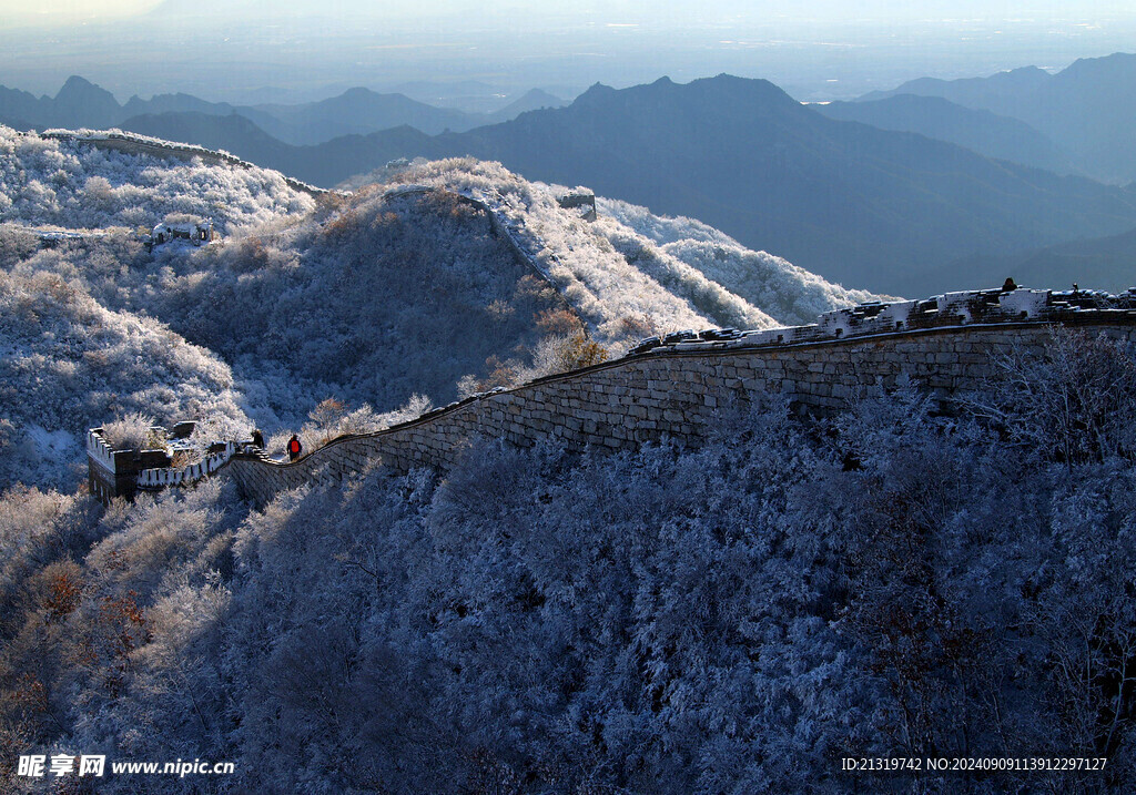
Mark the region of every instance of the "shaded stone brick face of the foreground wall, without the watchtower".
MULTIPOLYGON (((1049 303, 1044 306, 1052 307, 1045 295, 1049 303)), ((1017 304, 1026 298, 1008 302, 1013 317, 1041 311, 1019 311, 1017 304)), ((801 411, 832 412, 846 407, 859 391, 877 384, 894 386, 905 374, 947 399, 980 386, 992 375, 992 354, 1011 349, 1039 352, 1055 323, 1136 342, 1134 310, 1062 311, 1068 317, 933 324, 908 330, 894 330, 896 321, 885 316, 884 323, 893 330, 850 337, 843 336, 847 332, 833 332, 825 338, 799 342, 792 341, 794 336, 813 336, 822 324, 802 327, 803 332, 762 332, 755 338, 677 341, 477 395, 376 434, 341 438, 293 463, 234 455, 223 471, 236 479, 245 495, 264 504, 283 489, 340 480, 379 463, 396 469, 448 468, 478 437, 520 446, 558 440, 574 450, 629 450, 662 436, 696 444, 724 410, 762 393, 786 395, 801 411)))

